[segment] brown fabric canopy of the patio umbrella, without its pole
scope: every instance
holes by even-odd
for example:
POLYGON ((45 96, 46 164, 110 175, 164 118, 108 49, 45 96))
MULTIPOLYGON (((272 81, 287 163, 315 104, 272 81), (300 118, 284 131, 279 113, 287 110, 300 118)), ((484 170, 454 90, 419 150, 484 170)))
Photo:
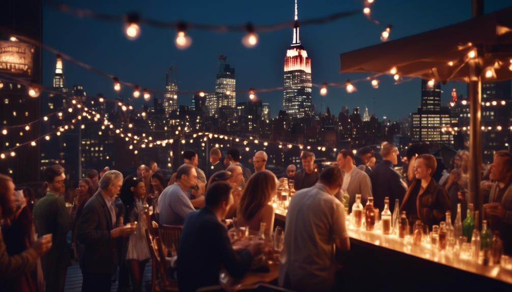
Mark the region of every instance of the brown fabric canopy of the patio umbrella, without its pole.
POLYGON ((340 54, 340 72, 374 72, 423 79, 470 81, 478 58, 483 80, 512 79, 512 7, 452 26, 340 54), (476 56, 475 47, 481 48, 476 56), (475 53, 475 55, 473 55, 475 53), (394 74, 394 73, 393 73, 394 74))

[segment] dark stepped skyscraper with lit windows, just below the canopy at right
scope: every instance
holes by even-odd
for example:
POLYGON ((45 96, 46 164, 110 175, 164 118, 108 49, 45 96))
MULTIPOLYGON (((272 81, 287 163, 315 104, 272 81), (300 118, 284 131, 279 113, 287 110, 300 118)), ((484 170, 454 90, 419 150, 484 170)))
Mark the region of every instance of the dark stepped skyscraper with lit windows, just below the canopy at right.
POLYGON ((441 84, 421 80, 421 106, 412 114, 414 142, 453 144, 453 135, 442 131, 451 124, 450 109, 441 107, 441 84))

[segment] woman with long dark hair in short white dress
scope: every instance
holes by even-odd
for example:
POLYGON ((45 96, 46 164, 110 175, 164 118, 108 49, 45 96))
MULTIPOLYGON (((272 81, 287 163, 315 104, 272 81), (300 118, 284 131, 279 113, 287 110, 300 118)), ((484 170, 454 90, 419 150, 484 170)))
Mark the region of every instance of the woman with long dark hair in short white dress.
POLYGON ((137 225, 135 232, 128 238, 125 257, 134 292, 142 290, 144 267, 151 257, 146 241, 149 214, 142 204, 145 193, 146 187, 141 178, 129 176, 124 180, 120 196, 124 207, 124 224, 137 225))

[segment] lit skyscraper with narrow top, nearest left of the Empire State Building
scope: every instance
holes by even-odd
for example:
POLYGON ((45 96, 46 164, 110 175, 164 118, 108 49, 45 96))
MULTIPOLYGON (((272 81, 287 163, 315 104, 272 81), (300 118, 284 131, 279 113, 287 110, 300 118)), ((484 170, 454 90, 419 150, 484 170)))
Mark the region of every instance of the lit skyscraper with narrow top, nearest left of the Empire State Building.
POLYGON ((219 116, 219 108, 226 106, 236 109, 237 95, 235 92, 236 79, 234 76, 234 68, 226 64, 227 57, 219 56, 220 67, 215 80, 215 94, 206 96, 206 107, 208 115, 219 116))

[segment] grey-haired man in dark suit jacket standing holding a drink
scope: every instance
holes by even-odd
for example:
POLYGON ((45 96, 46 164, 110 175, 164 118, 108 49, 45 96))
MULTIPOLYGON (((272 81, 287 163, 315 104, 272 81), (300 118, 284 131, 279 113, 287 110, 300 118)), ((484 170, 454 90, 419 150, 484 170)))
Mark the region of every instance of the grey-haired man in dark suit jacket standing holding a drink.
POLYGON ((135 228, 116 226, 114 198, 123 184, 118 171, 106 172, 99 181, 99 189, 83 207, 78 223, 77 237, 85 250, 80 258, 82 291, 110 291, 112 276, 117 269, 117 241, 135 228))

